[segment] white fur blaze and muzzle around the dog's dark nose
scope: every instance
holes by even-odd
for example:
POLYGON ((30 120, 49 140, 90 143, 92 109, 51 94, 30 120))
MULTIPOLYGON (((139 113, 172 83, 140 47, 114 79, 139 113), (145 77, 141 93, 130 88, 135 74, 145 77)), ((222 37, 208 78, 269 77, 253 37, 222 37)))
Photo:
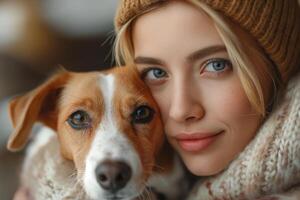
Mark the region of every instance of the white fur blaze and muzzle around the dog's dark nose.
POLYGON ((118 129, 114 116, 113 97, 115 84, 113 75, 101 75, 99 85, 104 97, 104 116, 96 131, 96 136, 86 159, 84 173, 84 188, 93 199, 105 199, 106 191, 98 184, 95 169, 102 161, 124 161, 132 169, 132 177, 128 184, 121 189, 117 196, 131 199, 141 192, 142 165, 132 144, 118 129))

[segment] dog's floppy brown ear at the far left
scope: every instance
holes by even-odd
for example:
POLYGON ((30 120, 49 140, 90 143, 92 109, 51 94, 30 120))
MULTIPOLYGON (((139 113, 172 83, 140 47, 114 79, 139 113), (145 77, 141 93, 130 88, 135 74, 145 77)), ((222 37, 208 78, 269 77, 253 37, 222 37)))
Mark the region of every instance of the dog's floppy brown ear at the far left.
POLYGON ((57 100, 70 75, 68 72, 59 73, 35 90, 10 101, 9 112, 14 126, 7 143, 10 151, 24 147, 36 121, 56 129, 57 100))

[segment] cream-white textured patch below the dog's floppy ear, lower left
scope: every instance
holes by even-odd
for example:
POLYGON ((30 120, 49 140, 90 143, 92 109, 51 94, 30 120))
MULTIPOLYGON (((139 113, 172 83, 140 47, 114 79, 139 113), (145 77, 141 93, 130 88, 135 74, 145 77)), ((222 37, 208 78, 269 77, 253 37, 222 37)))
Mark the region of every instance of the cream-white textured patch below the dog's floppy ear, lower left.
POLYGON ((89 200, 77 181, 73 162, 61 156, 53 130, 41 128, 26 153, 21 182, 32 199, 89 200))

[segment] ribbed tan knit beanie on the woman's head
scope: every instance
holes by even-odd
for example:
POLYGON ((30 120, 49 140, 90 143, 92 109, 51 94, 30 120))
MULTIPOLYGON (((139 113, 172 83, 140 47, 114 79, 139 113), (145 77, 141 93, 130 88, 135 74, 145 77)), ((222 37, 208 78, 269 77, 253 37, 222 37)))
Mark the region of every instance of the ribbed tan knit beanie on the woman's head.
MULTIPOLYGON (((167 0, 121 0, 118 32, 136 15, 167 0)), ((300 7, 297 0, 199 0, 247 30, 279 68, 283 80, 300 68, 300 7)))

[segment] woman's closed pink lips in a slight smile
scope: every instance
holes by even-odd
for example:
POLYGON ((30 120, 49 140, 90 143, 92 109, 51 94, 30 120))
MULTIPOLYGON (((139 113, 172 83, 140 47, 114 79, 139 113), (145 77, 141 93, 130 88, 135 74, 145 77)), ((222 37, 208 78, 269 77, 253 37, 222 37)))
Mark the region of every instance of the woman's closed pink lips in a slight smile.
POLYGON ((183 150, 198 152, 212 144, 221 133, 223 131, 218 133, 179 134, 176 136, 176 140, 183 150))

